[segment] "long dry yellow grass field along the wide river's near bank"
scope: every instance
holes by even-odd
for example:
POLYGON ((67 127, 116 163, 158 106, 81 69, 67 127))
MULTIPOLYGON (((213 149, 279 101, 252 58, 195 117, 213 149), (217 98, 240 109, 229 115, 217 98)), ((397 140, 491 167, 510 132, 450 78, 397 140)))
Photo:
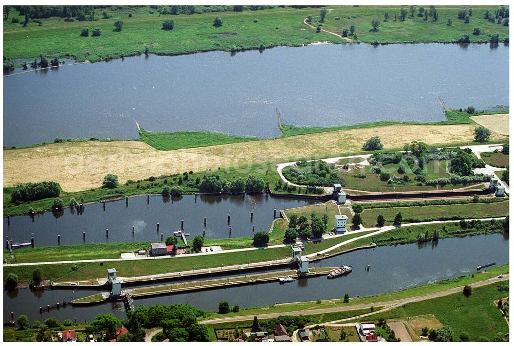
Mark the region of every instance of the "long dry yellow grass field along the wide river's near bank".
MULTIPOLYGON (((50 144, 4 150, 4 186, 53 180, 65 191, 74 192, 100 186, 106 173, 118 175, 124 183, 189 170, 351 153, 361 150, 362 143, 375 135, 385 148, 398 148, 412 140, 429 144, 472 141, 473 130, 469 124, 391 125, 173 151, 159 151, 131 140, 50 144)), ((493 140, 501 138, 505 136, 491 135, 493 140)))

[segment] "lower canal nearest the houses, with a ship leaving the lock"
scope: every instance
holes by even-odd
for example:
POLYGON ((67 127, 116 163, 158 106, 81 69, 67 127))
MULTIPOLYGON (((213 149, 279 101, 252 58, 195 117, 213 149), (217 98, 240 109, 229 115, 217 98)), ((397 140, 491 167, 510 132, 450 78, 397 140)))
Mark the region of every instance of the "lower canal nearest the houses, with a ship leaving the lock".
MULTIPOLYGON (((346 277, 328 280, 326 277, 301 279, 280 284, 278 282, 230 287, 196 293, 136 299, 135 305, 190 303, 197 307, 216 310, 218 302, 228 300, 241 307, 266 306, 275 303, 341 299, 368 296, 426 283, 455 278, 476 272, 476 266, 490 262, 508 263, 508 234, 477 235, 465 238, 442 239, 437 243, 408 244, 357 250, 340 256, 314 262, 317 267, 352 265, 346 277), (370 264, 370 271, 365 270, 370 264)), ((43 320, 55 316, 63 321, 77 318, 77 322, 91 321, 97 314, 113 313, 125 317, 122 303, 105 303, 89 307, 71 307, 39 314, 39 306, 69 301, 97 293, 97 290, 49 290, 31 292, 29 289, 4 290, 4 320, 10 312, 27 314, 29 319, 43 320)))

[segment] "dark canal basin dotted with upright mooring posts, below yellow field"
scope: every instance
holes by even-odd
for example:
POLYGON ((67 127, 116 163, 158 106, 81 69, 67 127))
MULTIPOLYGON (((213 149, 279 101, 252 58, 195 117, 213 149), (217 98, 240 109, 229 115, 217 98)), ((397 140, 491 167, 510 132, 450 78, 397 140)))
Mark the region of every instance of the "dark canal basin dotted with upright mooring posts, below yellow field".
POLYGON ((202 234, 204 229, 205 237, 209 239, 244 238, 253 236, 253 226, 255 232, 268 230, 274 209, 277 209, 276 216, 280 217, 280 210, 314 203, 317 202, 268 194, 150 196, 150 203, 147 203, 144 195, 128 198, 128 205, 125 199, 107 202, 105 211, 102 203, 95 203, 85 205, 81 214, 66 208, 58 215, 45 212, 33 218, 28 215, 12 216, 9 227, 7 217, 4 217, 4 235, 14 243, 23 243, 30 241, 33 234, 36 247, 58 245, 58 234, 61 236, 60 245, 159 241, 160 233, 166 239, 180 230, 181 220, 184 220, 184 231, 191 234, 187 237, 189 241, 202 234), (230 225, 227 222, 229 214, 230 225), (205 226, 204 217, 207 217, 205 226), (109 230, 108 236, 106 229, 109 230), (85 241, 83 231, 86 232, 85 241))

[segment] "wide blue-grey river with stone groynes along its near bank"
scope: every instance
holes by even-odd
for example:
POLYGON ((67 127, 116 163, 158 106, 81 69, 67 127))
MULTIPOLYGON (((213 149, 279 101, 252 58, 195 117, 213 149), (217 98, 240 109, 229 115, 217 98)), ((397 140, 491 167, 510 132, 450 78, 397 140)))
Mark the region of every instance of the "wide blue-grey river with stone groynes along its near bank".
POLYGON ((4 77, 4 145, 148 131, 276 137, 286 124, 444 120, 508 105, 509 48, 488 44, 277 47, 138 56, 4 77))

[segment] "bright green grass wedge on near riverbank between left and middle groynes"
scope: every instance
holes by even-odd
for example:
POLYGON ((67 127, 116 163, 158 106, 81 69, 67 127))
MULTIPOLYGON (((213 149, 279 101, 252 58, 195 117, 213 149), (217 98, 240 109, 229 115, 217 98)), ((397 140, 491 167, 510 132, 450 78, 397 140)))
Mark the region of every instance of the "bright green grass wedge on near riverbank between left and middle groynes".
POLYGON ((147 132, 141 130, 139 140, 158 150, 207 147, 208 145, 229 144, 261 140, 257 137, 238 137, 218 132, 147 132))

